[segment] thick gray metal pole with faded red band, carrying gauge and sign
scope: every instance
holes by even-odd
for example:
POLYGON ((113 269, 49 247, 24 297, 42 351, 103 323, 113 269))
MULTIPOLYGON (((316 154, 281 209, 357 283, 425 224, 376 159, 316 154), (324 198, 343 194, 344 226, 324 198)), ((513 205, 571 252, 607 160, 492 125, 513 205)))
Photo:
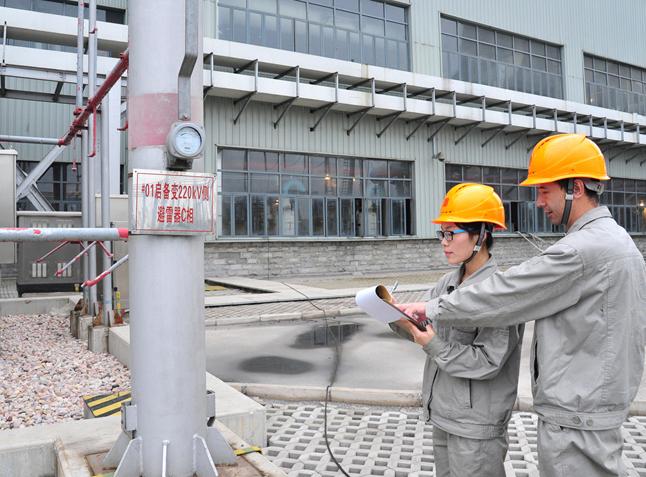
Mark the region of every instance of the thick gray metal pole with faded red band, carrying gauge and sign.
MULTIPOLYGON (((185 2, 129 3, 128 154, 132 169, 166 169, 166 136, 178 114, 185 28, 197 29, 202 2, 184 22, 185 2), (151 55, 163 51, 163 55, 151 55), (154 120, 152 120, 154 118, 154 120)), ((191 118, 203 122, 202 68, 191 75, 191 118)), ((130 186, 132 187, 132 185, 130 186)), ((130 190, 130 200, 135 193, 130 190)), ((132 224, 131 224, 132 225, 132 224)), ((213 463, 235 462, 207 428, 204 345, 204 237, 134 235, 128 244, 132 402, 106 461, 122 454, 115 477, 215 477, 213 463), (163 396, 163 399, 160 399, 163 396), (134 406, 134 411, 132 407, 134 406), (129 414, 136 416, 136 423, 129 414), (124 444, 127 448, 124 453, 124 444), (211 458, 213 457, 213 459, 211 458)), ((104 463, 106 462, 104 461, 104 463)))

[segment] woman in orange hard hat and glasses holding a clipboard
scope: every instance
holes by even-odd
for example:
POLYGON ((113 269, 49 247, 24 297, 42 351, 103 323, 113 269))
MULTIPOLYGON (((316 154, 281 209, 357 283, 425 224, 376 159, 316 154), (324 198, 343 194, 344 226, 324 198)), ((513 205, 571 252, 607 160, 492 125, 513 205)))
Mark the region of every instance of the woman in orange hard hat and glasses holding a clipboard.
MULTIPOLYGON (((505 212, 491 187, 456 185, 433 222, 440 225, 438 238, 447 262, 458 268, 431 289, 431 299, 477 283, 497 270, 490 253, 492 231, 505 228, 505 212)), ((504 476, 523 325, 429 325, 426 333, 419 333, 400 320, 391 327, 426 353, 422 403, 426 420, 433 424, 435 475, 504 476)))

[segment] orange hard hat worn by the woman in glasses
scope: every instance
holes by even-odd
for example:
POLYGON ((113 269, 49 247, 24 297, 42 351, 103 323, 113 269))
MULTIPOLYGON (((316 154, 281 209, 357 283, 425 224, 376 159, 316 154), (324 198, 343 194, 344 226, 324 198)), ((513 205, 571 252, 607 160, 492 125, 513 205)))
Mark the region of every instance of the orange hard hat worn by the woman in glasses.
POLYGON ((506 229, 505 209, 493 187, 465 182, 451 188, 444 196, 440 215, 434 224, 442 222, 489 222, 506 229))

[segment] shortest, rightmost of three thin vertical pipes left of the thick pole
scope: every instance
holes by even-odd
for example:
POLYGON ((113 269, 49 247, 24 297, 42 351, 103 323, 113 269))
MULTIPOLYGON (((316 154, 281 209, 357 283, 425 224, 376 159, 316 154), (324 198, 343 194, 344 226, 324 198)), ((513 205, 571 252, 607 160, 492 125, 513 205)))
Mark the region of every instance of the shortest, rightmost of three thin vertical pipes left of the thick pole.
MULTIPOLYGON (((110 227, 110 107, 108 98, 101 103, 101 226, 110 227)), ((107 251, 112 253, 112 244, 106 242, 107 251)), ((112 265, 112 258, 103 254, 103 270, 112 265)), ((112 275, 103 280, 103 325, 110 326, 112 316, 112 275)))

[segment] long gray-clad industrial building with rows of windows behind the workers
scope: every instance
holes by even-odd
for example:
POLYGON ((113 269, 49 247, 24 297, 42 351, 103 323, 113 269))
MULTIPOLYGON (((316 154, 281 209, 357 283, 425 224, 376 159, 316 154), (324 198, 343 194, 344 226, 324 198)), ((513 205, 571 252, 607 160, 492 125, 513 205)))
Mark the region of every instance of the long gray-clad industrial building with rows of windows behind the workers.
MULTIPOLYGON (((101 77, 126 47, 128 11, 125 0, 98 3, 101 77)), ((531 148, 555 132, 599 144, 613 178, 602 202, 646 248, 639 0, 621 8, 602 0, 205 0, 203 7, 203 168, 217 174, 218 190, 217 232, 205 245, 211 275, 437 266, 431 218, 460 181, 496 188, 508 227, 498 233, 499 256, 520 261, 535 253, 529 242, 560 233, 534 206, 534 191, 518 187, 531 148)), ((75 15, 76 2, 0 0, 1 136, 56 138, 67 130, 75 15)), ((112 121, 125 128, 125 102, 112 121)), ((127 192, 128 139, 116 129, 119 194, 127 192)), ((51 149, 2 145, 18 151, 25 173, 51 149)), ((38 180, 45 206, 80 210, 79 154, 68 148, 38 180)), ((27 196, 17 207, 38 208, 27 196)))

